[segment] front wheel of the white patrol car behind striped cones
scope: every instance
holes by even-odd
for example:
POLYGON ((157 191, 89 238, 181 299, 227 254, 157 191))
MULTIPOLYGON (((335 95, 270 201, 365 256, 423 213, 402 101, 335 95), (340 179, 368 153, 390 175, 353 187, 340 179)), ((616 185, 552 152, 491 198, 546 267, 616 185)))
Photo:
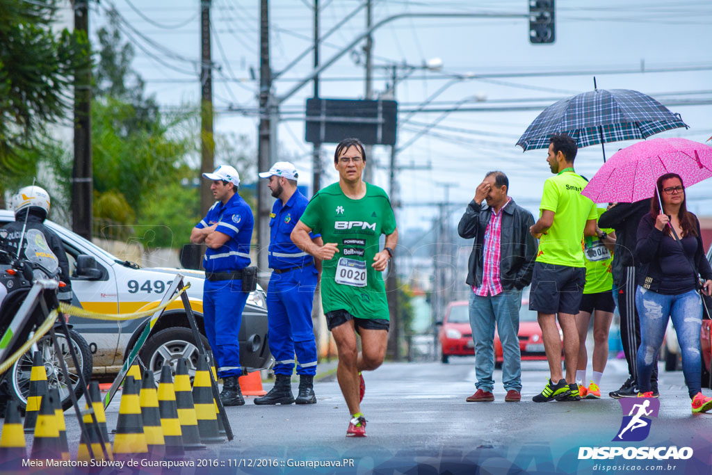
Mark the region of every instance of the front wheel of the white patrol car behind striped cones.
MULTIPOLYGON (((200 337, 203 347, 208 350, 208 339, 204 335, 200 337)), ((198 367, 199 350, 189 328, 166 328, 148 339, 139 356, 147 370, 153 372, 156 382, 161 379, 161 369, 164 365, 170 365, 171 372, 175 375, 179 358, 185 358, 188 360, 188 374, 192 381, 198 367)))

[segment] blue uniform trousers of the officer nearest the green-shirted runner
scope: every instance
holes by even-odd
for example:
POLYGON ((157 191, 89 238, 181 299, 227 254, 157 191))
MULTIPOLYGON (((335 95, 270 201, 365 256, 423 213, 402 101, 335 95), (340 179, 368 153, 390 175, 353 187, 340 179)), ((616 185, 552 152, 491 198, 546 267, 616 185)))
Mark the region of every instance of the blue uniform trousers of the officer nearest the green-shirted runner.
POLYGON ((311 319, 316 283, 314 266, 272 273, 267 290, 267 321, 276 375, 292 374, 295 353, 297 374, 316 374, 316 341, 311 319))

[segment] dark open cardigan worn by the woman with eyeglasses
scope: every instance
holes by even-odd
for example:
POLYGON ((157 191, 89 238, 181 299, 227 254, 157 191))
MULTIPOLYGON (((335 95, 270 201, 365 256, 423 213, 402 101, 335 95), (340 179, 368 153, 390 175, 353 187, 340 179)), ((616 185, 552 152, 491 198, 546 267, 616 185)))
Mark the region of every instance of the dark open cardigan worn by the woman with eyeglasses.
MULTIPOLYGON (((694 215, 693 215, 694 216, 694 215)), ((695 266, 696 274, 699 274, 703 279, 712 280, 712 268, 705 256, 704 245, 702 244, 700 221, 695 216, 697 227, 697 249, 695 251, 695 266)), ((665 278, 666 273, 660 266, 659 247, 660 241, 664 236, 664 231, 660 231, 655 227, 655 220, 649 213, 643 216, 638 226, 638 244, 635 250, 635 257, 639 263, 637 269, 637 283, 639 286, 648 288, 651 291, 658 291, 660 282, 665 278)), ((692 269, 690 269, 692 271, 692 269)))

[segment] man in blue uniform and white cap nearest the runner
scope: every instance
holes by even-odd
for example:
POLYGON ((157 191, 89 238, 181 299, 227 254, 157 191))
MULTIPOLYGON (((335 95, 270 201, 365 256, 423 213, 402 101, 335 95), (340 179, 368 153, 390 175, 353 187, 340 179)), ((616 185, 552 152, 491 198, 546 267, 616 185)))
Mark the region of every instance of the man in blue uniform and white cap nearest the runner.
MULTIPOLYGON (((302 252, 290 239, 309 202, 297 189, 298 173, 290 162, 277 162, 268 178, 272 196, 277 198, 270 214, 269 266, 273 269, 267 289, 268 342, 275 358, 274 387, 255 404, 315 404, 316 342, 311 318, 318 268, 312 256, 302 252), (292 395, 291 377, 295 366, 299 392, 292 395)), ((311 236, 321 243, 320 236, 311 236)))

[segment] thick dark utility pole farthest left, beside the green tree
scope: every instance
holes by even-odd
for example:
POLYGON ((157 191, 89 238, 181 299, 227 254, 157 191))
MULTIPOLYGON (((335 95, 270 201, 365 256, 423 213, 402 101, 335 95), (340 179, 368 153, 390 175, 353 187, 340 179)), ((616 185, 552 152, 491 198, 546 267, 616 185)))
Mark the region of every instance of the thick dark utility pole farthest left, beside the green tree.
MULTIPOLYGON (((75 0, 74 29, 89 40, 88 0, 75 0)), ((91 66, 74 76, 74 166, 72 169, 72 230, 91 241, 93 209, 91 156, 91 66)))

